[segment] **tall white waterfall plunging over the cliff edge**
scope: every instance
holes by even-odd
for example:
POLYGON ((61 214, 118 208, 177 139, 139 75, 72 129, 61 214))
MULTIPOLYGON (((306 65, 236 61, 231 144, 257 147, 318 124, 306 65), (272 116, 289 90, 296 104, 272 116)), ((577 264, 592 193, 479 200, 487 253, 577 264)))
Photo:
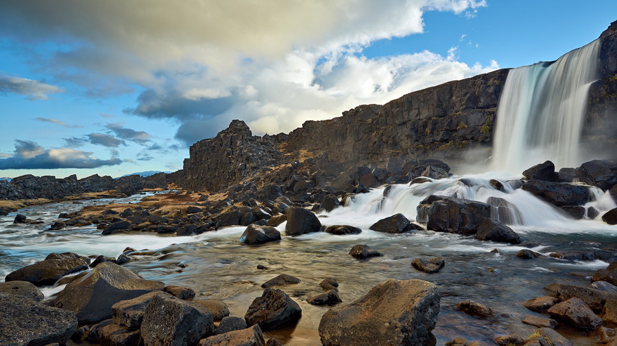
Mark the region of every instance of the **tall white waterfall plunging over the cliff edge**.
POLYGON ((579 141, 599 52, 595 40, 556 62, 509 72, 497 107, 494 170, 520 174, 546 160, 557 168, 581 163, 579 141))

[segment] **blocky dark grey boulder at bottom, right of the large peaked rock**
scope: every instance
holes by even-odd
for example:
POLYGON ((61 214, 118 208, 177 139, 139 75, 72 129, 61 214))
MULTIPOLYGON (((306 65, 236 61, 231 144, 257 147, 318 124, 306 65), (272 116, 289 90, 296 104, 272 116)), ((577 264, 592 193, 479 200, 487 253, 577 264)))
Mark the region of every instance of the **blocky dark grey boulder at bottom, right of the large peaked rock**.
POLYGON ((155 295, 141 323, 145 345, 195 345, 213 334, 210 310, 171 295, 155 295))

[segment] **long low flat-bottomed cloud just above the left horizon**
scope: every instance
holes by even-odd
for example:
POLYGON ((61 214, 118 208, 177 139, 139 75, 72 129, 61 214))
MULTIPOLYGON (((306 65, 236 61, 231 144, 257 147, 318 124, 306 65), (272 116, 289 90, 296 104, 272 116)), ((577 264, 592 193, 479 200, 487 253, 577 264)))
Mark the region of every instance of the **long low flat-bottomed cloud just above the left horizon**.
POLYGON ((99 168, 104 165, 119 165, 121 159, 97 159, 92 152, 71 148, 45 149, 35 142, 15 141, 14 155, 0 159, 0 170, 36 170, 55 168, 99 168))

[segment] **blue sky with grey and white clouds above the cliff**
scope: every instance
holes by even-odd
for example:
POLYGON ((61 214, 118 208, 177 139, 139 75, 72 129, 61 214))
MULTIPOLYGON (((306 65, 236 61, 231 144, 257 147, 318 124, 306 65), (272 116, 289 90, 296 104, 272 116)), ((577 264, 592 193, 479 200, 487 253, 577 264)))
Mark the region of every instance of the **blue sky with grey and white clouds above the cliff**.
POLYGON ((617 1, 0 0, 0 177, 173 172, 254 135, 559 56, 617 1))

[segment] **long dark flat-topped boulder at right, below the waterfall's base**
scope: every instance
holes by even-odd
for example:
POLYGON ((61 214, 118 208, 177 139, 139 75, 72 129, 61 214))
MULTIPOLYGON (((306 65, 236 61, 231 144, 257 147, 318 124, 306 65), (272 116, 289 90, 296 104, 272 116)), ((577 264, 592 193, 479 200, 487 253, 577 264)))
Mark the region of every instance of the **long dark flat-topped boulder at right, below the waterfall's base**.
POLYGON ((583 205, 589 202, 590 198, 588 187, 568 183, 527 181, 522 185, 522 189, 557 207, 583 205))

